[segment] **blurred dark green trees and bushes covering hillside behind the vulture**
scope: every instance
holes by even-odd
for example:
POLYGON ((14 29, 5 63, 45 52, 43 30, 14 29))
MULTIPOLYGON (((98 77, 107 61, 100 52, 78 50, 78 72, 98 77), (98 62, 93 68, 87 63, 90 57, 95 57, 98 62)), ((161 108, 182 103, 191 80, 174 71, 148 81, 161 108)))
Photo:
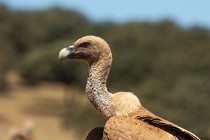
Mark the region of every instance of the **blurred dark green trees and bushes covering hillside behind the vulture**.
MULTIPOLYGON (((75 11, 12 11, 1 5, 0 93, 9 90, 9 71, 18 72, 25 86, 62 83, 84 91, 87 65, 58 62, 60 49, 84 35, 100 36, 111 47, 111 91, 132 91, 152 112, 210 139, 210 30, 167 19, 94 23, 75 11)), ((86 131, 92 122, 103 124, 92 108, 77 111, 78 104, 66 104, 75 108, 61 116, 67 128, 86 131)))

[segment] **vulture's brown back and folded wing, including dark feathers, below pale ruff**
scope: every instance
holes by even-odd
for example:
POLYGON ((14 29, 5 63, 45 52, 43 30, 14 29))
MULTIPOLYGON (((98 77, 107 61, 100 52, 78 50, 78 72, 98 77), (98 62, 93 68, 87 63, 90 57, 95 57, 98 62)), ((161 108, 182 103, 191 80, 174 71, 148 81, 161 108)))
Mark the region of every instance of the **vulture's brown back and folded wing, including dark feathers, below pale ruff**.
POLYGON ((104 140, 199 140, 191 132, 145 108, 129 116, 113 116, 104 128, 104 140))

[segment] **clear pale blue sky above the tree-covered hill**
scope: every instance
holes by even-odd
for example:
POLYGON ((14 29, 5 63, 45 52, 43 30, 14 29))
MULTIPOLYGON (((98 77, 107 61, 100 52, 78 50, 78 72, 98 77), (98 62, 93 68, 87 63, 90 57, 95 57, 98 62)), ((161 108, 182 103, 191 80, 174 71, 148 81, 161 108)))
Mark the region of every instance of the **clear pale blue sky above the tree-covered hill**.
POLYGON ((94 21, 158 21, 210 28, 210 0, 0 0, 10 8, 43 10, 52 6, 75 9, 94 21))

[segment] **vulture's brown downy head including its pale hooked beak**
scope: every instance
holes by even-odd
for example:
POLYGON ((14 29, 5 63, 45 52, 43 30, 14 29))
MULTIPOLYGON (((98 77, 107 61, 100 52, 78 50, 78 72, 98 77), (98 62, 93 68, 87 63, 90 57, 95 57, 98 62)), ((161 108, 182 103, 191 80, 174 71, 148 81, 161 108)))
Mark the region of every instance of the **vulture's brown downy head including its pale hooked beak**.
POLYGON ((63 48, 58 57, 60 62, 65 59, 81 59, 88 63, 96 62, 102 57, 112 58, 109 45, 96 36, 84 36, 78 39, 73 45, 63 48))

